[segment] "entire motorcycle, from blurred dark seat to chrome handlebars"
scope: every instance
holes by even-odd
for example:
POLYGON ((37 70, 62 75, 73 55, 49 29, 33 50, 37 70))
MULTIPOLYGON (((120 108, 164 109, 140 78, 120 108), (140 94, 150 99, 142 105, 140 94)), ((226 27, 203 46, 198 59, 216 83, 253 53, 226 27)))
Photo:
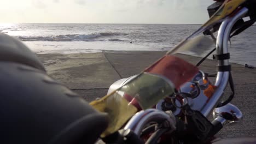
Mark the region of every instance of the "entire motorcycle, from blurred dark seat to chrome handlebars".
POLYGON ((113 83, 108 95, 90 105, 49 77, 19 40, 0 34, 1 142, 255 143, 255 138, 214 137, 226 122, 242 118, 230 103, 234 83, 228 41, 253 25, 255 4, 253 0, 217 1, 208 7, 210 20, 197 31, 142 73, 113 83), (243 21, 246 16, 251 19, 243 21), (204 51, 202 47, 210 47, 212 41, 216 48, 210 53, 217 50, 216 75, 197 68, 210 53, 196 65, 172 56, 182 50, 204 51), (216 76, 214 85, 208 79, 212 76, 216 76), (220 102, 228 83, 232 93, 220 102), (210 122, 207 117, 212 111, 210 122))

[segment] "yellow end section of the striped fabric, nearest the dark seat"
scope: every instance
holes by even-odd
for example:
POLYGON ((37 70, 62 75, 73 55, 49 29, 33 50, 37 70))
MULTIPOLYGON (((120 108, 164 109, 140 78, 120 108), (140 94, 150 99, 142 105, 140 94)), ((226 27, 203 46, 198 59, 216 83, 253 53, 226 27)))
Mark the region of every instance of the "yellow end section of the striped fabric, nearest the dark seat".
POLYGON ((100 112, 108 113, 110 122, 101 137, 118 131, 137 112, 137 108, 129 104, 129 101, 121 97, 117 91, 100 100, 92 101, 90 105, 100 112))

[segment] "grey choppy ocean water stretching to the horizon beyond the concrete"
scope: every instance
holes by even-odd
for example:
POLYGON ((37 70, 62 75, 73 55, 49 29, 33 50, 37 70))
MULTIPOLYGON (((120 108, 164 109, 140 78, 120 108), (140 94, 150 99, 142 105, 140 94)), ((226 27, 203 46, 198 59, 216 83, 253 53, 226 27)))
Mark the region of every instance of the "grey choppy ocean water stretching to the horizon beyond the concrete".
MULTIPOLYGON (((167 51, 199 27, 200 25, 9 23, 0 24, 0 32, 19 38, 39 54, 92 53, 103 50, 167 51)), ((231 39, 230 62, 256 66, 255 45, 256 26, 252 26, 231 39)), ((198 56, 191 52, 183 53, 198 56)))

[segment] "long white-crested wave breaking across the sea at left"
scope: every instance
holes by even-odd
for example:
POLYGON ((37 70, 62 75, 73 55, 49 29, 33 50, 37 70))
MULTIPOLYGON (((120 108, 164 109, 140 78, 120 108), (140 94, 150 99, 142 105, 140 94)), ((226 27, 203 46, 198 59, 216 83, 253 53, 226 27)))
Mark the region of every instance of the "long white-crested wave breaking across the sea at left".
MULTIPOLYGON (((100 37, 112 37, 114 35, 125 35, 125 33, 91 33, 91 34, 66 34, 50 36, 18 36, 22 41, 91 41, 100 37)), ((122 41, 119 39, 109 39, 110 41, 122 41)))

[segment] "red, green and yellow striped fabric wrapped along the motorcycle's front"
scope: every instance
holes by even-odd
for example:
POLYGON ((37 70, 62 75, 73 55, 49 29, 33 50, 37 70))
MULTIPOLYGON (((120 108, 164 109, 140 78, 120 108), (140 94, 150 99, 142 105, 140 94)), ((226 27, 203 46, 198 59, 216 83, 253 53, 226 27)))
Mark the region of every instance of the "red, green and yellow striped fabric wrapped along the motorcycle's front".
POLYGON ((165 55, 124 86, 92 101, 95 109, 109 114, 110 124, 101 136, 119 130, 138 110, 153 107, 197 72, 197 67, 183 59, 165 55))

